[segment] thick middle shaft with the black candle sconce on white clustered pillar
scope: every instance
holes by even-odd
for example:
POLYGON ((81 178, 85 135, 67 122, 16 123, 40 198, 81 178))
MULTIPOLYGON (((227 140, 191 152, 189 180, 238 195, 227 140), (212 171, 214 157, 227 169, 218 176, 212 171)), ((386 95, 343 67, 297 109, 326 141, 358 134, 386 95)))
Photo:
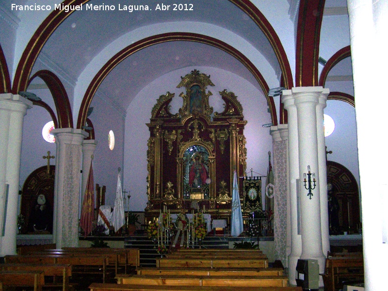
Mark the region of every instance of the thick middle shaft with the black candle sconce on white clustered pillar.
MULTIPOLYGON (((329 92, 328 89, 322 87, 295 87, 291 91, 295 98, 298 115, 299 177, 301 179, 301 259, 317 259, 320 273, 323 273, 325 255, 322 249, 316 107, 319 104, 320 97, 326 93, 327 96, 329 92), (303 176, 304 173, 307 173, 308 166, 310 166, 311 173, 315 173, 317 178, 315 189, 312 190, 314 195, 311 197, 307 196, 308 191, 303 182, 303 176)), ((322 223, 327 223, 327 221, 322 221, 322 223)), ((321 284, 323 286, 322 280, 320 280, 321 284)))

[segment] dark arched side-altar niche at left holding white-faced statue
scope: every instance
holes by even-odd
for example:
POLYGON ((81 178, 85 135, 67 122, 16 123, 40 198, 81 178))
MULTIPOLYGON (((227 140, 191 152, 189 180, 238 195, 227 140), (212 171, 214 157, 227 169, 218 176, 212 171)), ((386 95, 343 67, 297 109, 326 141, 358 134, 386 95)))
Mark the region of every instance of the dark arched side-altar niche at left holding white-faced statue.
POLYGON ((20 214, 25 224, 24 234, 52 234, 55 166, 34 170, 21 191, 20 214))

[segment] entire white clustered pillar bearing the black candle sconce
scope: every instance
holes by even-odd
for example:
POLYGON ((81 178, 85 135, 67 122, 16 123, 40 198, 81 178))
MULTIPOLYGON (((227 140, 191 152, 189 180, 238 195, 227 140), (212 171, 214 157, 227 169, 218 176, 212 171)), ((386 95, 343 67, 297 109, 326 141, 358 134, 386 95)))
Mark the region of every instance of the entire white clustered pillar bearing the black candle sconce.
MULTIPOLYGON (((289 152, 290 152, 290 192, 291 192, 291 217, 296 218, 296 228, 298 229, 298 219, 300 218, 300 228, 297 235, 301 239, 300 259, 317 259, 320 266, 320 273, 324 270, 325 255, 329 249, 328 240, 328 214, 327 214, 327 185, 326 185, 326 165, 325 165, 325 146, 323 135, 323 108, 326 106, 326 98, 329 94, 328 89, 322 87, 295 87, 292 90, 283 91, 282 101, 288 110, 289 116, 289 152), (296 118, 296 120, 295 120, 296 118), (296 124, 295 124, 296 121, 296 124), (295 139, 297 129, 297 142, 295 139), (292 137, 291 137, 292 136, 292 137), (291 146, 291 143, 293 144, 291 146), (298 173, 296 173, 295 150, 298 152, 298 173), (291 153, 292 152, 292 153, 291 153), (291 163, 293 165, 291 165, 291 163), (303 174, 307 173, 307 166, 310 166, 311 173, 316 175, 316 187, 312 190, 311 199, 307 196, 303 174), (296 175, 297 176, 294 176, 296 175), (291 178, 292 176, 292 178, 291 178), (296 208, 293 205, 295 201, 292 198, 292 180, 296 178, 299 183, 299 205, 296 199, 296 208), (321 191, 321 188, 323 189, 321 191), (322 197, 321 197, 322 196, 322 197), (300 209, 298 213, 298 207, 300 209), (295 213, 296 215, 293 215, 295 213)), ((296 185, 298 187, 298 185, 296 185)), ((291 241, 295 241, 295 219, 291 221, 291 241)), ((297 255, 291 242, 291 255, 289 257, 289 274, 293 274, 297 255)), ((299 250, 298 250, 299 252, 299 250)), ((291 279, 293 284, 295 279, 291 279)), ((322 278, 320 286, 323 286, 322 278)))

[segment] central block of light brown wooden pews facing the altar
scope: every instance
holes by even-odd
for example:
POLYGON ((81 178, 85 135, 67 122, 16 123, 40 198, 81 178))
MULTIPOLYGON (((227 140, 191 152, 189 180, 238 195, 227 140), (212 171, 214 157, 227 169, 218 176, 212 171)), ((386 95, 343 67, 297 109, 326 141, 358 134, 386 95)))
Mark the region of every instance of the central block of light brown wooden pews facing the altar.
POLYGON ((289 287, 282 268, 268 268, 260 250, 180 249, 157 258, 157 267, 116 276, 115 284, 89 286, 91 291, 302 291, 289 287))

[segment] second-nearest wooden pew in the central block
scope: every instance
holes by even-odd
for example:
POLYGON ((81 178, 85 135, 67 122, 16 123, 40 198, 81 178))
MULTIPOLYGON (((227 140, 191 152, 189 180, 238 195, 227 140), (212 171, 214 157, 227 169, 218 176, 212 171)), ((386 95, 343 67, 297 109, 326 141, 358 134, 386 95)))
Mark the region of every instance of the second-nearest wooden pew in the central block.
POLYGON ((127 275, 116 277, 118 284, 188 285, 231 287, 286 287, 287 276, 186 276, 186 275, 127 275))

